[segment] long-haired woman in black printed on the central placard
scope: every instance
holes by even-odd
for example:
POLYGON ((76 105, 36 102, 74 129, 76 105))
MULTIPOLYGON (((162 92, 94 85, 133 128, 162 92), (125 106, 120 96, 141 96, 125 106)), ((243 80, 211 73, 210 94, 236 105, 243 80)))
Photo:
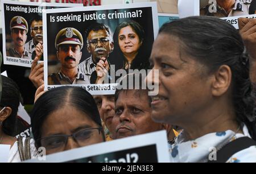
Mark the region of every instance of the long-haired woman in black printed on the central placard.
POLYGON ((118 69, 147 69, 149 53, 144 47, 143 27, 134 20, 120 23, 114 32, 114 52, 122 60, 118 69))

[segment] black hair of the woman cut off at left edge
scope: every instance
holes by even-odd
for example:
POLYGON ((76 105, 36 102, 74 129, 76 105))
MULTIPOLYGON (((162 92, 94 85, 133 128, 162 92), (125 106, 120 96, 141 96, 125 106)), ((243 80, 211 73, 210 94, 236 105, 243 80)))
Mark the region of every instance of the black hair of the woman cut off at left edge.
POLYGON ((11 78, 2 76, 1 106, 11 107, 11 114, 3 121, 3 132, 9 136, 17 134, 17 112, 21 96, 18 85, 11 78))

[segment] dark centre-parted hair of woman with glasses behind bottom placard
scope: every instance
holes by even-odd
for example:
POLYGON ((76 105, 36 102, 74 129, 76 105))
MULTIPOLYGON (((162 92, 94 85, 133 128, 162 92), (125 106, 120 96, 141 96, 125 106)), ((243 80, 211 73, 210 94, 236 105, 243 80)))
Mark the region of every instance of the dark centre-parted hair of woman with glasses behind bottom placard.
MULTIPOLYGON (((38 98, 31 111, 31 128, 36 147, 41 145, 38 140, 41 138, 42 125, 48 115, 57 109, 62 109, 67 104, 87 114, 98 126, 102 127, 97 105, 92 95, 86 90, 77 86, 61 86, 51 89, 38 98)), ((103 130, 101 132, 104 135, 103 130)))

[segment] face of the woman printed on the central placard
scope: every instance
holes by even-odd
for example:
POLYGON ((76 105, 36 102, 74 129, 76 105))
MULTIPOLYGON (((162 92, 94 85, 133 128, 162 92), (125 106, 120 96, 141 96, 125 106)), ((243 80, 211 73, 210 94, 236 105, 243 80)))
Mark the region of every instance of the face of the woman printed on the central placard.
POLYGON ((118 43, 121 51, 125 55, 137 53, 141 42, 139 36, 130 26, 123 27, 118 34, 118 43))

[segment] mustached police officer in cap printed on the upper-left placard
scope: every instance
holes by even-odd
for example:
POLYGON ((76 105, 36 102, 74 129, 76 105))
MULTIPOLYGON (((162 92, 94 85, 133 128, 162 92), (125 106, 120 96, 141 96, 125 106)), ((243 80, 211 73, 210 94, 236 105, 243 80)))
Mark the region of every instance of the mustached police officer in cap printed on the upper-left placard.
POLYGON ((24 49, 27 40, 28 24, 22 16, 14 16, 10 22, 13 48, 6 49, 6 56, 31 59, 31 53, 24 49))

